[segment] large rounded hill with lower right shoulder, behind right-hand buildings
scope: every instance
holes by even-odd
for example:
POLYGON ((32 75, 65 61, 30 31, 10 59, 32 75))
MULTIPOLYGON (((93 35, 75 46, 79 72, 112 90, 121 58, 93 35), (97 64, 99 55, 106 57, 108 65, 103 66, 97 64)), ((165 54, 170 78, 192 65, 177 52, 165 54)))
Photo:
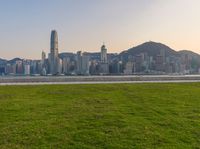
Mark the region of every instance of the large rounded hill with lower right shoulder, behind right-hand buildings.
POLYGON ((175 58, 179 62, 187 63, 186 61, 188 61, 189 65, 194 70, 200 68, 199 54, 189 50, 175 51, 167 45, 152 41, 143 43, 141 45, 121 52, 118 56, 118 59, 121 59, 123 62, 127 62, 130 55, 137 56, 138 54, 146 53, 148 56, 152 56, 155 60, 156 56, 160 55, 163 52, 166 57, 173 57, 173 59, 175 58))

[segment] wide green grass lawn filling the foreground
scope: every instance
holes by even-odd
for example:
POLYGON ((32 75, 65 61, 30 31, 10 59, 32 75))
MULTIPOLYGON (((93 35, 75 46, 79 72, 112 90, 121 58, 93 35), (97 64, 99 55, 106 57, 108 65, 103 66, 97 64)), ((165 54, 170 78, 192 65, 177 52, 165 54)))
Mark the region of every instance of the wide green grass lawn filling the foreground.
POLYGON ((4 148, 200 148, 200 83, 0 86, 4 148))

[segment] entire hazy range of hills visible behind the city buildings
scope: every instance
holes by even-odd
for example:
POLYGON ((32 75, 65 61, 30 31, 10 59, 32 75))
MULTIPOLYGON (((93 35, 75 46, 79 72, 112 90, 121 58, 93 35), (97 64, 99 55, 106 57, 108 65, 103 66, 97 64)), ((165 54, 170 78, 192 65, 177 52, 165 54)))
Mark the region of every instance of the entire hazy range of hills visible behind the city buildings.
MULTIPOLYGON (((127 61, 129 55, 132 56, 137 56, 138 54, 141 53, 146 53, 148 56, 152 56, 154 59, 157 55, 161 54, 161 52, 165 54, 166 57, 184 57, 188 56, 189 59, 193 61, 193 63, 197 64, 200 66, 200 55, 197 53, 194 53, 189 50, 182 50, 182 51, 176 51, 169 46, 159 43, 159 42, 145 42, 141 45, 138 45, 136 47, 132 47, 128 50, 122 51, 119 54, 115 53, 108 53, 108 59, 113 60, 113 59, 121 59, 122 61, 127 61)), ((99 52, 84 52, 85 55, 90 56, 91 60, 100 60, 100 51, 99 52)), ((75 53, 60 53, 59 57, 63 59, 64 57, 69 57, 71 60, 75 60, 76 54, 75 53)), ((17 60, 22 60, 21 58, 14 58, 12 60, 5 60, 5 59, 0 59, 0 64, 5 64, 6 62, 8 63, 15 63, 17 60)))

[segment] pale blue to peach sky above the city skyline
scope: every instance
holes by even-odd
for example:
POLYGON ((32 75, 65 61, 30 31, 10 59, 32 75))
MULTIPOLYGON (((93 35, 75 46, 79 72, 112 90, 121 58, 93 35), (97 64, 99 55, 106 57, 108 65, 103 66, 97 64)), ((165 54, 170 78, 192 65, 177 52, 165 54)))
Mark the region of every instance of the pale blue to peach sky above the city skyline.
POLYGON ((40 59, 51 30, 59 52, 119 53, 147 41, 200 53, 200 0, 1 0, 0 58, 40 59))

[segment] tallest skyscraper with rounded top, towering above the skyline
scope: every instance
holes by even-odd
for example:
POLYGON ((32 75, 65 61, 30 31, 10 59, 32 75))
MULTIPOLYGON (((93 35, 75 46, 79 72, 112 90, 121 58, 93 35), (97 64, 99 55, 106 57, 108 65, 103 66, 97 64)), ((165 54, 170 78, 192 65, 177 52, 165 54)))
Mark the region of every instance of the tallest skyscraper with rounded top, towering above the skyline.
POLYGON ((56 30, 51 32, 51 44, 50 44, 50 73, 56 75, 59 73, 59 57, 58 57, 58 34, 56 30))

